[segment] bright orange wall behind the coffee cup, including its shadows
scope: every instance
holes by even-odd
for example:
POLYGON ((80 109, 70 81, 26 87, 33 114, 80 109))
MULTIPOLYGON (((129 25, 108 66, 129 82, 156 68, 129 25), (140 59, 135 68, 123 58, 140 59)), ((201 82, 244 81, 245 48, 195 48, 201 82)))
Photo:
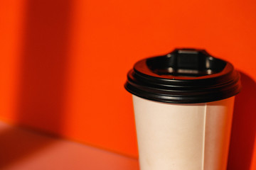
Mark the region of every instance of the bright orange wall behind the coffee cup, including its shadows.
POLYGON ((228 169, 256 169, 255 1, 9 0, 0 26, 0 119, 131 157, 134 62, 174 47, 232 62, 243 90, 228 169))

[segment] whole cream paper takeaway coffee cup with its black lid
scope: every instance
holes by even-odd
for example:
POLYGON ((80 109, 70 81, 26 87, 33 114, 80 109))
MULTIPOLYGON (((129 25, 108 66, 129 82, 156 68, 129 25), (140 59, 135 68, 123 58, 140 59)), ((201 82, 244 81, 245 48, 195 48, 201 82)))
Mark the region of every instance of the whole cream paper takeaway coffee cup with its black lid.
POLYGON ((224 170, 240 74, 205 50, 176 49, 134 64, 141 170, 224 170))

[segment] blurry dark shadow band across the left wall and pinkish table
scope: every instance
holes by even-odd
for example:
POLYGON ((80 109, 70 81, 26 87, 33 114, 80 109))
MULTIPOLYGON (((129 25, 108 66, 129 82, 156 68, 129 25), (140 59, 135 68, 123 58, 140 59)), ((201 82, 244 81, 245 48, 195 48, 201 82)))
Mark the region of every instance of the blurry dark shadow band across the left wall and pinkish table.
MULTIPOLYGON (((16 121, 58 133, 65 116, 72 3, 71 0, 27 0, 26 3, 16 121)), ((0 169, 4 169, 51 143, 17 136, 16 130, 9 129, 0 132, 0 144, 0 169)))

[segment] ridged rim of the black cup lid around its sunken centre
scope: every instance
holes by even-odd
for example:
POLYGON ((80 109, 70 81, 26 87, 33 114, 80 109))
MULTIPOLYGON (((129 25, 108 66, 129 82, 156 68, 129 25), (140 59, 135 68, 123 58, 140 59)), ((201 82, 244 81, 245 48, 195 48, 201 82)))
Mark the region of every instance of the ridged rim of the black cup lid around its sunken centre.
MULTIPOLYGON (((208 53, 204 51, 203 55, 206 54, 208 53)), ((238 94, 241 89, 239 72, 235 71, 230 62, 210 57, 211 60, 225 63, 223 69, 215 74, 193 78, 154 73, 149 69, 146 60, 155 60, 156 57, 139 60, 129 70, 124 87, 135 96, 164 103, 206 103, 238 94)))

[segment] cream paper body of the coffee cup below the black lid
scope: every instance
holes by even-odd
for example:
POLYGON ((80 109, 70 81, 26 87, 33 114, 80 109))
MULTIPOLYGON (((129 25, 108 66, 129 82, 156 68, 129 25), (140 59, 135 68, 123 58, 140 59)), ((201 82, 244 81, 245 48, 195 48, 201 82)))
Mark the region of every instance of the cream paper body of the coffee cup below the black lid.
POLYGON ((141 170, 225 170, 235 96, 208 103, 133 97, 141 170))

